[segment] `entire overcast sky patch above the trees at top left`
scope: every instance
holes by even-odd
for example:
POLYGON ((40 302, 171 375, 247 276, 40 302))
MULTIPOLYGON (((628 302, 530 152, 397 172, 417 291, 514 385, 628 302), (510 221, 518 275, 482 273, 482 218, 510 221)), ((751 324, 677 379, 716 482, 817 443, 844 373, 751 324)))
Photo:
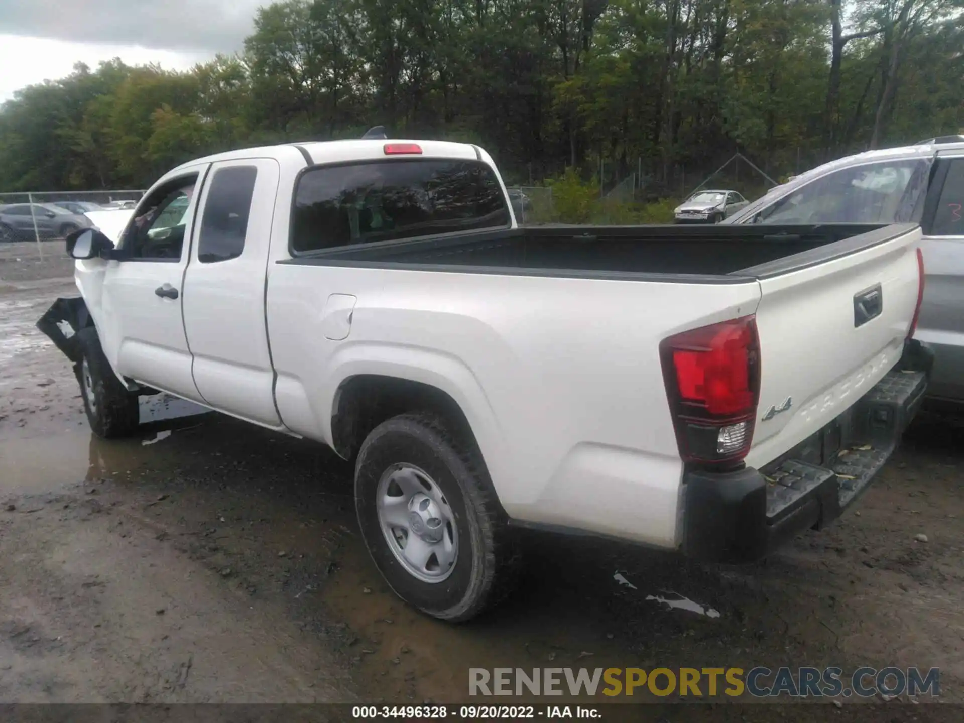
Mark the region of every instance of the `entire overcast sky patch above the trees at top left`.
POLYGON ((184 69, 241 50, 270 0, 0 0, 0 102, 13 91, 120 57, 184 69))

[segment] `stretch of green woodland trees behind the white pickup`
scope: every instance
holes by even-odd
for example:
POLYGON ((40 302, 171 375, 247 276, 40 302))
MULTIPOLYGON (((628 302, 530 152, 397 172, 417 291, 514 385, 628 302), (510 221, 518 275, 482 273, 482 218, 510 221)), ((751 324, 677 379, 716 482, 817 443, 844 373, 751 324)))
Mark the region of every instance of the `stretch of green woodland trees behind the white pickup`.
POLYGON ((964 127, 962 3, 282 0, 240 55, 77 66, 14 94, 0 189, 143 186, 376 124, 487 147, 525 183, 597 174, 594 194, 641 170, 647 196, 679 195, 736 151, 798 173, 964 127))

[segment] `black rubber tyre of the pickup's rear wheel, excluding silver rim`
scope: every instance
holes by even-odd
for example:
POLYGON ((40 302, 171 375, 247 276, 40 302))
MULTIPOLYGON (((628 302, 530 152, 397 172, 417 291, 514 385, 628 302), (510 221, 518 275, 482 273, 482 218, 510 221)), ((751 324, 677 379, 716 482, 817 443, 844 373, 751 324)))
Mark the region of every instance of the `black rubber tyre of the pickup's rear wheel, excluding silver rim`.
POLYGON ((519 556, 481 455, 455 429, 444 417, 429 413, 398 415, 376 427, 359 451, 355 505, 372 560, 395 594, 435 618, 463 622, 511 590, 519 556), (382 531, 376 504, 379 482, 400 464, 424 470, 454 514, 458 555, 441 582, 410 573, 382 531))

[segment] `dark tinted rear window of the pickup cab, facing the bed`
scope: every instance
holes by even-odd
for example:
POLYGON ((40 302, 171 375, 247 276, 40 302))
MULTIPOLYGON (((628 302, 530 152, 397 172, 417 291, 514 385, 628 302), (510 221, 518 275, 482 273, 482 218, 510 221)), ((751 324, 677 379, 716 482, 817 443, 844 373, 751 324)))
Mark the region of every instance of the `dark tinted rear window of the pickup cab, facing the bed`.
POLYGON ((322 166, 295 189, 291 249, 509 226, 493 170, 477 161, 406 159, 322 166))

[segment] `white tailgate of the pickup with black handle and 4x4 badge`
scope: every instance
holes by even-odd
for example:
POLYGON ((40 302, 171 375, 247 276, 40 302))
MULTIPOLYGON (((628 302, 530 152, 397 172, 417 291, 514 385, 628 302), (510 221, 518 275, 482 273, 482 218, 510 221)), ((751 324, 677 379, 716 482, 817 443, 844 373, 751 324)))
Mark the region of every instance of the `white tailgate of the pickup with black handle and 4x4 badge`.
POLYGON ((816 433, 897 363, 918 300, 920 241, 920 228, 883 228, 839 242, 829 261, 741 272, 757 273, 761 286, 760 403, 748 466, 816 433))

